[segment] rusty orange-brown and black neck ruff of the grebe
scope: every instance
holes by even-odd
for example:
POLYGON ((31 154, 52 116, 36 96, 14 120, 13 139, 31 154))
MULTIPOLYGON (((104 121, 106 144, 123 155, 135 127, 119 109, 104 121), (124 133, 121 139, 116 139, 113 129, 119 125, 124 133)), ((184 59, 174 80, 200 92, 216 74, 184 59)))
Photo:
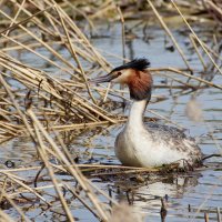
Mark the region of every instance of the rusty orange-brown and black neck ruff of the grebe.
POLYGON ((134 100, 150 100, 152 82, 152 77, 149 71, 134 70, 128 79, 130 97, 134 100))

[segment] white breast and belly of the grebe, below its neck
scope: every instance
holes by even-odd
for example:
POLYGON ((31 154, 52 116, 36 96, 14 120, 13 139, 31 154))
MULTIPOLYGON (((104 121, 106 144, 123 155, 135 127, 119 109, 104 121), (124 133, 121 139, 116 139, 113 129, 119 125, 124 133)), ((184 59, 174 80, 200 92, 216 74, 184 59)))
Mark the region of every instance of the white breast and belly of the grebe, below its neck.
POLYGON ((124 165, 158 167, 188 159, 185 153, 152 141, 149 134, 138 129, 125 128, 115 140, 115 154, 124 165))

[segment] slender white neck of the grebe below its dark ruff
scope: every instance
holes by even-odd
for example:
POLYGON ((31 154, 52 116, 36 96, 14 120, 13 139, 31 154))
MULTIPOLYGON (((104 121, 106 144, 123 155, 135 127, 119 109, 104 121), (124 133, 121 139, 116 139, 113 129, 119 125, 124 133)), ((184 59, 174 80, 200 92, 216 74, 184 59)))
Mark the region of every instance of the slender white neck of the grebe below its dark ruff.
POLYGON ((133 101, 130 109, 130 115, 128 119, 128 127, 134 128, 134 129, 143 128, 143 114, 148 105, 148 102, 149 102, 148 99, 133 101))

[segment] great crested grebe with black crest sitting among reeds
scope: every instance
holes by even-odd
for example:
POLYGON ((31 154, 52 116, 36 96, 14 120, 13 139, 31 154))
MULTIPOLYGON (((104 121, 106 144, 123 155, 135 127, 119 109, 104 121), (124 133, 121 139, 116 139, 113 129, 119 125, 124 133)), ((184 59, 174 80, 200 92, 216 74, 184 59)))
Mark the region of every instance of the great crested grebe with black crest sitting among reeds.
POLYGON ((92 79, 93 83, 128 84, 133 103, 124 129, 115 139, 115 155, 124 165, 160 167, 179 162, 196 167, 202 153, 194 139, 181 130, 157 123, 144 124, 143 114, 151 98, 152 77, 147 59, 134 59, 109 74, 92 79))

